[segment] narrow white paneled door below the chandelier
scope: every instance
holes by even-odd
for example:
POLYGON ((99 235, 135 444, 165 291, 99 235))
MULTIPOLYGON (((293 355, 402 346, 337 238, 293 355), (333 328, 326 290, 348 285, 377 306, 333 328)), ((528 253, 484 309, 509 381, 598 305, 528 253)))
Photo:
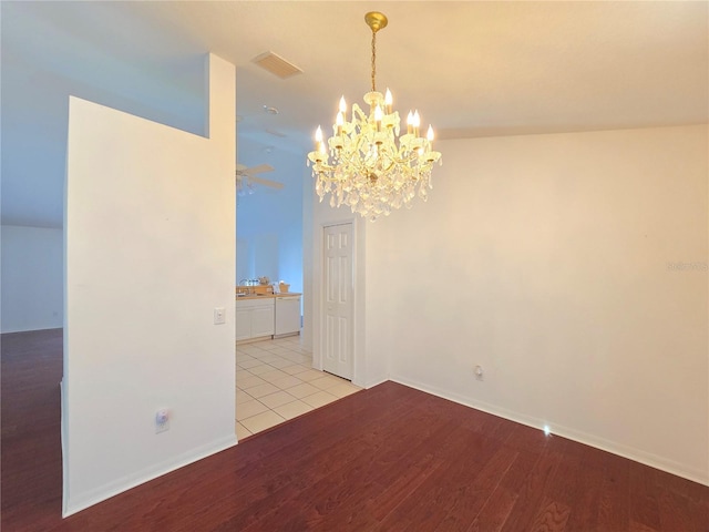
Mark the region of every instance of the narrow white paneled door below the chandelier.
POLYGON ((354 306, 352 272, 352 224, 323 227, 322 291, 325 338, 322 369, 352 379, 354 306))

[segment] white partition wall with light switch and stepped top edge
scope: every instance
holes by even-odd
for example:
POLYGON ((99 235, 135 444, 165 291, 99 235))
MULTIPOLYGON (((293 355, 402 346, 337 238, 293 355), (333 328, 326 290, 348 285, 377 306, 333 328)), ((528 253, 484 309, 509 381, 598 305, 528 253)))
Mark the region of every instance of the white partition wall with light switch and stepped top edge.
POLYGON ((207 139, 70 102, 64 515, 236 443, 235 70, 206 64, 207 139))

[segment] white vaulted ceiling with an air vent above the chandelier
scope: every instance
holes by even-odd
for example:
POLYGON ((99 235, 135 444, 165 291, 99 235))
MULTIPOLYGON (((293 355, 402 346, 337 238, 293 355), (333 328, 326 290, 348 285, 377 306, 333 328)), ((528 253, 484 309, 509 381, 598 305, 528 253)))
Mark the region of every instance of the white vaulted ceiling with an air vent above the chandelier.
POLYGON ((341 94, 361 102, 369 90, 369 10, 389 17, 377 41, 378 89, 391 89, 400 113, 419 109, 439 139, 709 121, 705 1, 2 1, 1 9, 3 223, 61 226, 68 94, 201 133, 209 51, 237 66, 239 144, 305 152, 341 94), (251 62, 269 50, 304 73, 281 80, 251 62))

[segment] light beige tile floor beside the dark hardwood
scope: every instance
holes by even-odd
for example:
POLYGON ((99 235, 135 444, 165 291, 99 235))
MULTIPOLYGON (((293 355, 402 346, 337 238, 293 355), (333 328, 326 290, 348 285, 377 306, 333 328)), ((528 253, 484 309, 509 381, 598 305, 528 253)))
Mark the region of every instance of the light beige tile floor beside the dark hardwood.
POLYGON ((236 346, 236 436, 269 429, 360 388, 312 369, 300 336, 236 346))

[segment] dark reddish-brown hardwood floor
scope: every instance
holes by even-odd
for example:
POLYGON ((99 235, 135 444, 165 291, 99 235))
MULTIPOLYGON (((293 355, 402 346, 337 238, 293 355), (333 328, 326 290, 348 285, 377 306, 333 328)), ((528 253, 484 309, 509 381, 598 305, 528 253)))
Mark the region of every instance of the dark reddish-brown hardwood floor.
POLYGON ((61 330, 2 335, 2 531, 709 531, 709 488, 387 382, 61 519, 61 330))

